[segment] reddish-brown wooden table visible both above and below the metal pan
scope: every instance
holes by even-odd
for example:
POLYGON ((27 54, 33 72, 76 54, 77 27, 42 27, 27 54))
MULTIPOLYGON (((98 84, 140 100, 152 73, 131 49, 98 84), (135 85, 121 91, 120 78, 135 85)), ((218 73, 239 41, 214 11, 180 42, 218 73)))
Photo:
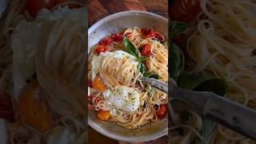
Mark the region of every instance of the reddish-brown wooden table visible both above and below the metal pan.
MULTIPOLYGON (((88 0, 88 26, 92 26, 98 20, 120 11, 143 10, 168 18, 167 0, 88 0)), ((89 144, 129 144, 129 142, 118 142, 106 138, 92 128, 89 128, 89 144)), ((158 138, 150 142, 139 144, 165 144, 167 137, 158 138)), ((134 143, 135 144, 135 143, 134 143)), ((138 143, 137 143, 138 144, 138 143)))

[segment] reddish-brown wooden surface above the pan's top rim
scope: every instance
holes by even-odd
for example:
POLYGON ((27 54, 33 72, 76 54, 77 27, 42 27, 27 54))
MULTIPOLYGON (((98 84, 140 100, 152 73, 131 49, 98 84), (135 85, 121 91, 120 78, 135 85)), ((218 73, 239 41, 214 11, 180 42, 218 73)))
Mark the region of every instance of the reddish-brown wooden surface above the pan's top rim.
POLYGON ((127 10, 143 10, 168 18, 167 0, 89 0, 88 25, 92 26, 107 15, 127 10))

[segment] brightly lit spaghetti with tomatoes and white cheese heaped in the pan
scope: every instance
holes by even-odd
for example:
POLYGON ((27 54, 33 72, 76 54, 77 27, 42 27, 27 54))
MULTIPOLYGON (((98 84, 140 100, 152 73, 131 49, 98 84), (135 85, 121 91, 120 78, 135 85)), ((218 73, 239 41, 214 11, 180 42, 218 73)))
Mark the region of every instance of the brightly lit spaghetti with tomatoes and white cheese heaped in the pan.
POLYGON ((166 42, 162 41, 162 35, 156 38, 157 32, 148 34, 150 30, 138 27, 125 29, 102 38, 91 48, 88 77, 93 84, 89 95, 98 118, 116 122, 127 129, 158 122, 162 118, 159 112, 168 102, 167 94, 139 80, 143 74, 138 65, 143 61, 147 73, 158 74, 162 82, 168 82, 166 42), (127 41, 132 46, 126 45, 127 41), (146 51, 146 46, 150 46, 150 50, 146 51), (134 52, 129 54, 130 50, 134 52), (142 57, 145 59, 138 60, 142 57))

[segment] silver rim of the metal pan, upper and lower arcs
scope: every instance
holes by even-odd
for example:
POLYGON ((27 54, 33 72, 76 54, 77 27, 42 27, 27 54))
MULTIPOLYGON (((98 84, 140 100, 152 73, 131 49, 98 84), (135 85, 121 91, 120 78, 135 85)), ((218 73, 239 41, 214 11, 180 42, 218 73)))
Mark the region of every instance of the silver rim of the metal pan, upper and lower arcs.
MULTIPOLYGON (((131 14, 142 14, 142 15, 145 15, 145 16, 153 17, 153 18, 159 18, 162 21, 168 23, 167 18, 164 18, 161 15, 154 14, 154 13, 151 13, 151 12, 140 11, 140 10, 122 11, 122 12, 118 12, 118 13, 115 13, 115 14, 110 14, 110 15, 106 16, 105 18, 100 19, 98 22, 94 23, 94 25, 90 26, 90 28, 88 29, 88 39, 89 39, 89 35, 92 34, 93 31, 99 25, 102 25, 102 23, 105 23, 106 21, 108 21, 110 19, 114 19, 116 17, 126 16, 127 14, 130 14, 130 15, 131 14)), ((89 51, 90 51, 90 48, 88 47, 88 52, 89 51)), ((110 132, 108 130, 103 129, 101 126, 98 126, 95 122, 93 122, 93 120, 90 118, 89 114, 88 114, 88 124, 94 130, 98 131, 98 133, 100 133, 102 135, 105 135, 108 138, 113 138, 115 140, 124 141, 124 142, 146 142, 146 141, 150 141, 150 140, 160 138, 160 137, 168 134, 168 126, 166 126, 166 128, 163 128, 162 130, 159 130, 158 133, 146 134, 146 135, 138 136, 138 137, 135 136, 134 138, 125 137, 125 136, 117 135, 117 134, 110 134, 110 132)))

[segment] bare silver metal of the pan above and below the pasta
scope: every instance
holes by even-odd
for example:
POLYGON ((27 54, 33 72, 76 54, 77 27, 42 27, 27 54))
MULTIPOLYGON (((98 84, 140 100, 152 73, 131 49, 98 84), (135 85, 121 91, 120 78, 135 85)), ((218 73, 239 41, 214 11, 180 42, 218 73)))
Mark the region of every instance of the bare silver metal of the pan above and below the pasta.
MULTIPOLYGON (((124 11, 112 14, 90 26, 88 30, 88 53, 91 46, 94 46, 108 34, 118 32, 124 27, 133 28, 135 26, 150 26, 164 34, 166 38, 168 35, 168 20, 166 18, 143 11, 124 11)), ((167 118, 163 118, 159 122, 151 122, 138 129, 129 130, 118 126, 114 122, 101 121, 96 117, 94 110, 89 110, 88 123, 99 133, 109 138, 126 142, 146 142, 168 134, 167 118)))

